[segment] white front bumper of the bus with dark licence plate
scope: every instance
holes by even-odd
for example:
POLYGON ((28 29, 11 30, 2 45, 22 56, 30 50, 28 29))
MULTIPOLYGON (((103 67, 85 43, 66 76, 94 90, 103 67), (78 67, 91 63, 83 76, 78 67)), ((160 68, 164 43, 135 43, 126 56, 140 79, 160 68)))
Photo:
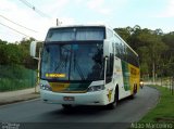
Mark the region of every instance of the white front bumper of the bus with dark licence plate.
POLYGON ((86 93, 58 93, 40 89, 41 100, 52 104, 107 105, 109 104, 105 90, 86 93))

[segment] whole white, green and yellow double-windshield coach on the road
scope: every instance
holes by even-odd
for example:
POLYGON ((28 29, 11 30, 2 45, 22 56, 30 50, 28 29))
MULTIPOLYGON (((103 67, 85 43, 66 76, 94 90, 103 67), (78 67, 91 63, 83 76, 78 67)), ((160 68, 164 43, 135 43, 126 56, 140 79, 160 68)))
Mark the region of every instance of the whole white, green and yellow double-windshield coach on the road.
POLYGON ((44 42, 39 75, 41 100, 64 108, 115 108, 119 100, 139 90, 138 54, 104 25, 51 27, 44 42))

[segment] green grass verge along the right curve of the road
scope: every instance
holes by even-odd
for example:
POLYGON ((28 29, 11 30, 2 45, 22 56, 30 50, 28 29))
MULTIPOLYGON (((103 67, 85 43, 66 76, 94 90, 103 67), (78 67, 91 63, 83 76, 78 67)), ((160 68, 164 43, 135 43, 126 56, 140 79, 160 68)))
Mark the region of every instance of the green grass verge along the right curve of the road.
POLYGON ((160 100, 157 106, 149 111, 139 122, 174 122, 174 94, 170 89, 161 86, 150 86, 160 91, 160 100))

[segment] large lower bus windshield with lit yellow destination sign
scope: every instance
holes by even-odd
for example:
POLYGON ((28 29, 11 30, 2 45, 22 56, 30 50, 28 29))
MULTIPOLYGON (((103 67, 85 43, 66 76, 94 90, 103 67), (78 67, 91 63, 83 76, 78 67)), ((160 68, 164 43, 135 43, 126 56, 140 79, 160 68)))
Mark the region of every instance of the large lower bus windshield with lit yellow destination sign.
POLYGON ((47 43, 41 60, 41 79, 103 80, 103 43, 47 43))

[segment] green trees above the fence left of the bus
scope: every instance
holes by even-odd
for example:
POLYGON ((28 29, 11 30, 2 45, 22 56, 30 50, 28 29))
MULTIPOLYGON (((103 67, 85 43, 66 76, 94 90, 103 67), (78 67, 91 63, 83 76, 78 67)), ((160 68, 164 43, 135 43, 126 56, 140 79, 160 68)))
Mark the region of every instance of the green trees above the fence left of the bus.
POLYGON ((0 40, 0 65, 24 65, 27 68, 36 69, 37 61, 29 55, 29 46, 34 39, 23 39, 21 42, 8 43, 0 40))

